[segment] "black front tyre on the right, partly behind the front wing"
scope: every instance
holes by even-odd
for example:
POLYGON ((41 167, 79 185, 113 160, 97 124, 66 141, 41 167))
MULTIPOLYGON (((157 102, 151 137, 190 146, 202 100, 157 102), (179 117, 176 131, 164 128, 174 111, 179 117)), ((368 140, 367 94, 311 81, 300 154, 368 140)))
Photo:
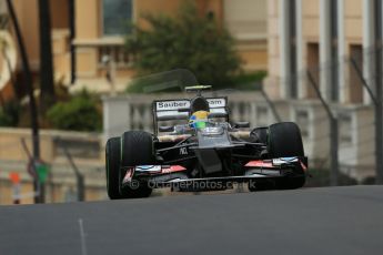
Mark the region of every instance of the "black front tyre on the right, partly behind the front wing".
MULTIPOLYGON (((304 156, 301 131, 293 122, 281 122, 269 126, 268 151, 271 157, 304 156)), ((294 173, 276 181, 280 190, 302 187, 305 175, 294 173)))

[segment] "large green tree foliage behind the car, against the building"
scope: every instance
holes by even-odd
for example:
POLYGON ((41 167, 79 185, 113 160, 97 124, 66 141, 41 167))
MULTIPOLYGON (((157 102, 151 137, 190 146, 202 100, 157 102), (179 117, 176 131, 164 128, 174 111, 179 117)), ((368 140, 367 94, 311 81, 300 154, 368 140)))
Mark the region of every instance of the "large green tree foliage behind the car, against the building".
POLYGON ((133 27, 127 50, 137 54, 140 74, 189 69, 200 83, 228 86, 239 70, 240 59, 233 39, 213 17, 201 17, 195 4, 180 6, 174 18, 143 14, 151 29, 133 27))

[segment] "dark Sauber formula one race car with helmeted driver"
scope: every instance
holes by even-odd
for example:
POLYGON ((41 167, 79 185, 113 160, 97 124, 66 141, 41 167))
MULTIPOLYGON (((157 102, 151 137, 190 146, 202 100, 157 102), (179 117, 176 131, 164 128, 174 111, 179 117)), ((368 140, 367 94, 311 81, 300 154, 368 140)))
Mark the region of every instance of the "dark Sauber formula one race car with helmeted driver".
POLYGON ((154 132, 127 131, 107 142, 107 186, 112 200, 147 197, 153 188, 211 191, 248 183, 250 191, 299 188, 305 183, 299 126, 282 122, 250 130, 231 123, 228 98, 154 101, 154 132), (183 124, 160 125, 172 120, 183 124))

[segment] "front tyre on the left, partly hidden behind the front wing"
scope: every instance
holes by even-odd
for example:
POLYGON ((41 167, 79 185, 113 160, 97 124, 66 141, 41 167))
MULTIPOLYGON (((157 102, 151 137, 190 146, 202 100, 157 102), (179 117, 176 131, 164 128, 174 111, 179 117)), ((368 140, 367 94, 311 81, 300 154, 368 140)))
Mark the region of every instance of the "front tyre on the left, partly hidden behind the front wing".
MULTIPOLYGON (((153 136, 143 131, 128 131, 121 136, 121 166, 155 164, 153 136)), ((140 182, 138 186, 124 187, 121 191, 124 198, 148 197, 152 188, 148 183, 140 182)))

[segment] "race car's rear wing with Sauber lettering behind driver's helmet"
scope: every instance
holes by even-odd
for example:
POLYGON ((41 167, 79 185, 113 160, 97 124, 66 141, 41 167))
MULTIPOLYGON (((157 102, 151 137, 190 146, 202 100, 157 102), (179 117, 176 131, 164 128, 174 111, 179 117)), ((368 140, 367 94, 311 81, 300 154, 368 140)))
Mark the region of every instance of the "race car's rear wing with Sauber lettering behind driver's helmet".
MULTIPOLYGON (((228 98, 206 98, 212 118, 224 118, 229 122, 228 98)), ((153 128, 158 133, 159 122, 189 120, 190 100, 158 100, 153 101, 153 128)))

